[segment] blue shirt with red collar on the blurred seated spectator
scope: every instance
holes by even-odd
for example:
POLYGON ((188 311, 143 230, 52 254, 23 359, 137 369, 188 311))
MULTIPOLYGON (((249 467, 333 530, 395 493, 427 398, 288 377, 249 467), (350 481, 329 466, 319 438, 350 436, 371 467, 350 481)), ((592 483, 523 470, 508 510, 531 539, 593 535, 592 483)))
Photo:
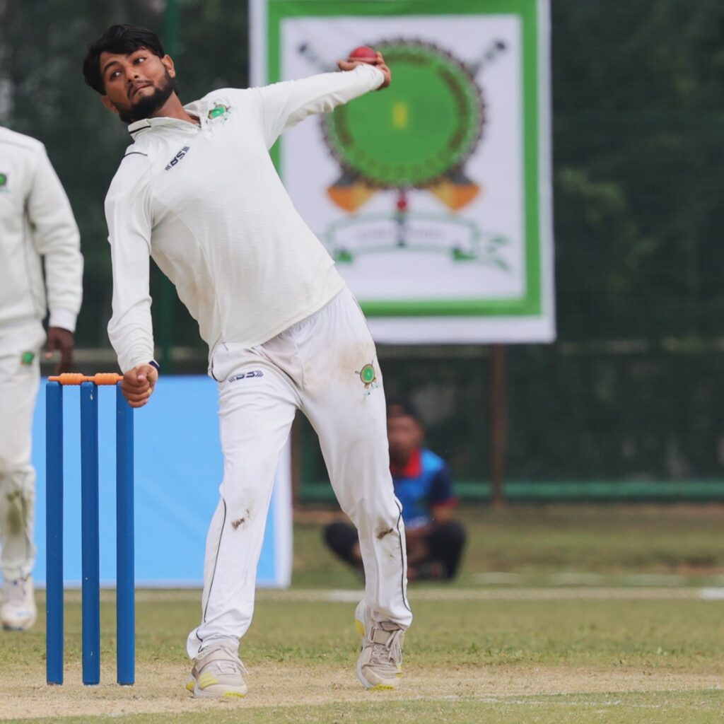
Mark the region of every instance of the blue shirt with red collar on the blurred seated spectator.
POLYGON ((413 450, 407 465, 390 465, 397 500, 403 506, 405 528, 426 526, 432 520, 431 506, 457 502, 452 492, 450 468, 432 450, 413 450))

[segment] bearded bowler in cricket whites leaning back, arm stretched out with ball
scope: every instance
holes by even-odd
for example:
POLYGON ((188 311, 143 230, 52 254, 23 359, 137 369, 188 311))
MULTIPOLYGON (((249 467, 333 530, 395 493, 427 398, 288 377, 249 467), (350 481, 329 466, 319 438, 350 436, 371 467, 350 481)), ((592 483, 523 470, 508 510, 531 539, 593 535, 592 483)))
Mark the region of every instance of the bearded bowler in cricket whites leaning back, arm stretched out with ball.
POLYGON ((194 696, 246 694, 237 649, 251 623, 277 458, 297 409, 319 434, 334 492, 359 531, 358 677, 369 689, 392 689, 400 674, 412 614, 374 342, 269 156, 302 119, 390 83, 379 54, 339 65, 342 72, 265 88, 215 90, 185 106, 172 59, 148 30, 112 26, 83 65, 133 140, 106 198, 109 337, 124 393, 141 407, 158 377, 149 255, 198 321, 219 385, 224 479, 206 541, 201 624, 187 642, 194 696))

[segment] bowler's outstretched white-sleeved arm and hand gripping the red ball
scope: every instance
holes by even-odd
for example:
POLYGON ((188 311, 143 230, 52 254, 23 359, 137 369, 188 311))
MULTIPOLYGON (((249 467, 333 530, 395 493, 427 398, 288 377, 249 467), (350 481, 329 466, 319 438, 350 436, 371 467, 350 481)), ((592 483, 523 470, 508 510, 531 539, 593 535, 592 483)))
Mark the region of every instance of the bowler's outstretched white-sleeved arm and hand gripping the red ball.
POLYGON ((390 69, 384 65, 381 55, 379 59, 379 64, 340 61, 340 67, 344 64, 345 72, 321 73, 302 80, 285 80, 258 88, 264 111, 267 148, 274 145, 279 135, 306 117, 327 113, 370 90, 389 85, 390 69))

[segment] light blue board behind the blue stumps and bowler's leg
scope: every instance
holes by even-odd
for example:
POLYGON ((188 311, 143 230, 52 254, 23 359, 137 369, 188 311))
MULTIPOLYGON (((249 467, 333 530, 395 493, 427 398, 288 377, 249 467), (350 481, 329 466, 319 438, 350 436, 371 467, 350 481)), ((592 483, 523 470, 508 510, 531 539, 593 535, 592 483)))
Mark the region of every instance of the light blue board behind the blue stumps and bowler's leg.
MULTIPOLYGON (((38 471, 33 571, 46 580, 45 382, 33 419, 38 471)), ((116 448, 114 387, 99 388, 101 584, 116 580, 116 448)), ((64 387, 64 578, 80 585, 80 399, 64 387)), ((206 530, 219 501, 223 456, 216 383, 205 376, 165 377, 146 407, 135 411, 135 575, 138 586, 201 586, 206 530)), ((274 492, 277 495, 277 492, 274 492)), ((278 585, 274 501, 257 572, 260 586, 278 585)))

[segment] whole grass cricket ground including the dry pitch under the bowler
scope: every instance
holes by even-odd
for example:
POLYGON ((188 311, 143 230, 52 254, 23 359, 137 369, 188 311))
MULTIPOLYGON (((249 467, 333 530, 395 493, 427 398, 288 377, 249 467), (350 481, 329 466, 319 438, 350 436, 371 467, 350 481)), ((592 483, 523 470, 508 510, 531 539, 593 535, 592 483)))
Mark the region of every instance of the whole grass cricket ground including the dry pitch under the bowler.
POLYGON ((466 518, 471 550, 461 580, 454 586, 411 586, 416 621, 406 642, 400 691, 366 692, 356 681, 354 595, 333 594, 340 600, 329 600, 324 586, 359 589, 360 584, 327 559, 318 543, 319 523, 308 520, 298 526, 295 588, 259 596, 242 650, 250 671, 244 701, 194 701, 183 688, 189 670, 183 643, 198 620, 198 592, 138 593, 138 683, 132 688, 111 683, 114 608, 112 594, 104 592, 104 683, 85 689, 80 597, 70 592, 63 687, 44 683, 42 620, 25 634, 0 633, 0 719, 139 724, 723 720, 724 601, 701 599, 696 588, 723 573, 720 509, 642 508, 638 514, 607 507, 502 514, 482 509, 466 518), (552 562, 546 551, 555 552, 552 562), (497 565, 484 564, 493 557, 497 565), (693 560, 699 563, 692 565, 693 560), (515 579, 520 585, 481 584, 479 576, 490 571, 520 576, 515 579), (571 571, 600 576, 607 584, 619 579, 624 587, 522 587, 571 571), (633 591, 626 581, 642 575, 665 575, 675 585, 633 591), (626 597, 627 591, 643 598, 626 597), (555 597, 538 595, 547 592, 555 597))

